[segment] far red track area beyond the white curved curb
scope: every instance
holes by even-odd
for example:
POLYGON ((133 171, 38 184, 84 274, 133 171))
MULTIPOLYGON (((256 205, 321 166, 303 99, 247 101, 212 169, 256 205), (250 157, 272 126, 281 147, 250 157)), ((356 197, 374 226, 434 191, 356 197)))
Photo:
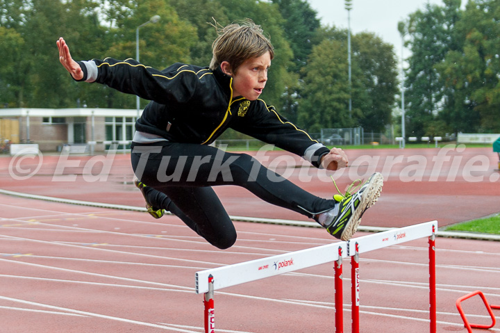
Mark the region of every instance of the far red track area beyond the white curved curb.
MULTIPOLYGON (((283 152, 252 152, 264 165, 311 193, 331 197, 330 175, 341 190, 352 181, 382 172, 381 199, 363 217, 362 225, 403 227, 427 220, 440 226, 489 216, 500 211, 498 156, 489 148, 360 149, 348 151, 351 167, 338 172, 308 168, 308 163, 283 152), (288 166, 289 168, 285 168, 288 166), (290 168, 292 167, 292 168, 290 168)), ((143 206, 133 186, 127 154, 114 156, 42 156, 17 161, 0 157, 0 188, 74 200, 143 206), (103 168, 102 161, 106 160, 103 168), (108 163, 109 162, 109 163, 108 163), (17 167, 19 165, 19 167, 17 167), (36 171, 33 177, 23 170, 36 171), (21 179, 26 177, 26 179, 21 179), (20 180, 21 179, 21 180, 20 180)), ((215 188, 230 215, 308 220, 299 213, 267 204, 244 188, 215 188)))

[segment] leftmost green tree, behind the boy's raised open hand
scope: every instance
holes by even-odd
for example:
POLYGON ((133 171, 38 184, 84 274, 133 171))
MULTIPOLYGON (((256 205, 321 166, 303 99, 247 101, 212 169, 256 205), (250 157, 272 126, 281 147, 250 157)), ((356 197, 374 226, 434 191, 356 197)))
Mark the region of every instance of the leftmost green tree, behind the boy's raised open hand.
POLYGON ((71 40, 78 40, 80 35, 88 37, 85 29, 91 26, 92 15, 83 10, 85 6, 95 5, 90 0, 0 1, 0 8, 8 10, 0 15, 0 26, 9 31, 0 43, 8 45, 2 55, 17 59, 4 63, 1 73, 0 81, 6 83, 2 99, 8 99, 4 103, 12 107, 62 107, 76 101, 74 86, 68 84, 67 73, 60 70, 55 45, 60 36, 71 40), (14 35, 17 42, 12 44, 14 35))

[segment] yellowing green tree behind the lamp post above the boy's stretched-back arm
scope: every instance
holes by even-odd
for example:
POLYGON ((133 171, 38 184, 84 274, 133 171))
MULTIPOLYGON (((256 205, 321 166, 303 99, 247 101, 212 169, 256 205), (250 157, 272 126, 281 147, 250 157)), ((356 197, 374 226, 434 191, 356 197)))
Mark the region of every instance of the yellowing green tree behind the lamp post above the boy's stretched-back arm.
MULTIPOLYGON (((101 0, 102 5, 108 3, 101 0)), ((163 0, 112 1, 104 11, 94 10, 101 17, 100 38, 92 36, 92 47, 76 59, 112 57, 135 58, 135 32, 138 26, 154 15, 160 21, 140 28, 140 62, 162 70, 176 62, 190 62, 190 48, 197 43, 196 29, 178 17, 172 6, 163 0)), ((75 42, 76 45, 78 45, 75 42)), ((103 85, 78 85, 79 97, 88 106, 135 108, 135 96, 125 95, 103 85)), ((141 100, 141 107, 147 101, 141 100)))

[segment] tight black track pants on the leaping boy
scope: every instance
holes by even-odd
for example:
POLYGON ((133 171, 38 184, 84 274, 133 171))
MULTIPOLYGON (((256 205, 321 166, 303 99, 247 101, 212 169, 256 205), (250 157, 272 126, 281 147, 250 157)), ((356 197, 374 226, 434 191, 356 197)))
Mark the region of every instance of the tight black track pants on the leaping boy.
POLYGON ((134 143, 131 160, 135 175, 149 187, 147 200, 153 206, 171 211, 222 249, 235 243, 236 232, 211 186, 242 186, 266 202, 309 218, 335 204, 299 188, 252 156, 207 145, 134 143))

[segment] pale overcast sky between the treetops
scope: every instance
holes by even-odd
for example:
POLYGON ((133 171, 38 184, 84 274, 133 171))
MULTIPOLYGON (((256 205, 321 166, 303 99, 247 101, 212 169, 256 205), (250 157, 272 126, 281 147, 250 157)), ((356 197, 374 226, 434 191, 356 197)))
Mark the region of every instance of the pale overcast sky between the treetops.
MULTIPOLYGON (((467 0, 462 0, 462 7, 467 0)), ((322 24, 335 25, 347 29, 347 10, 344 0, 308 0, 317 11, 322 24)), ((424 9, 426 3, 442 5, 442 0, 352 0, 351 31, 369 31, 381 37, 384 42, 394 45, 397 58, 401 58, 401 35, 397 30, 399 21, 410 13, 424 9)), ((403 56, 409 56, 407 49, 403 56)))

